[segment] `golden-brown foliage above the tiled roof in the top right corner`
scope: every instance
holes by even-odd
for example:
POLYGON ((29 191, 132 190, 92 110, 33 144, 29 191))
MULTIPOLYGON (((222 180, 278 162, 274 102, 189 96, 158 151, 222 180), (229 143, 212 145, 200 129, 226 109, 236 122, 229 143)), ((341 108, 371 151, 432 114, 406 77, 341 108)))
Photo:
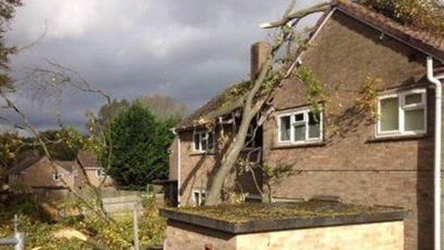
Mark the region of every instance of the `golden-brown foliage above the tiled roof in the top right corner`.
POLYGON ((444 35, 444 3, 440 0, 364 0, 362 4, 391 19, 444 35))

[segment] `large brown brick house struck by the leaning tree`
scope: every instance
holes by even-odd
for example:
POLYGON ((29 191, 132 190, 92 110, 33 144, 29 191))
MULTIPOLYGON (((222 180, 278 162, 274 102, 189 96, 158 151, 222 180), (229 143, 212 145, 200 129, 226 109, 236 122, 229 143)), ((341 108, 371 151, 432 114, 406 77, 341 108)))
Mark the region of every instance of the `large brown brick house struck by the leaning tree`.
MULTIPOLYGON (((411 211, 405 249, 433 249, 435 88, 426 62, 432 57, 433 73, 442 72, 444 38, 339 1, 317 23, 310 45, 295 60, 334 95, 315 118, 304 83, 286 80, 276 91, 274 112, 255 145, 261 165, 291 166, 289 175, 270 185, 273 199, 328 196, 405 207, 411 211), (354 98, 369 78, 382 85, 372 122, 361 119, 354 98)), ((268 49, 266 43, 253 45, 253 75, 268 49)), ((175 129, 169 178, 177 182, 182 205, 201 203, 218 164, 213 153, 218 132, 196 126, 196 120, 218 114, 218 125, 236 122, 236 110, 223 110, 225 93, 175 129)), ((245 183, 253 186, 251 179, 245 183)))

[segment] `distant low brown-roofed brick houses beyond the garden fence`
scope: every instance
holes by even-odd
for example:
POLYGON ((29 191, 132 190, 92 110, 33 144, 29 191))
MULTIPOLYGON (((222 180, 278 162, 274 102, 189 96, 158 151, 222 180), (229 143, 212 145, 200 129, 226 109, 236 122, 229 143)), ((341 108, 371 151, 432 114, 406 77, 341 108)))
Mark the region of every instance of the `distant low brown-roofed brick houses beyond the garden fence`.
POLYGON ((97 157, 91 152, 81 151, 73 161, 54 161, 57 171, 47 157, 28 157, 8 172, 9 184, 16 190, 31 192, 38 197, 69 197, 69 190, 63 181, 79 191, 85 187, 86 179, 98 187, 113 187, 113 181, 100 167, 97 157))

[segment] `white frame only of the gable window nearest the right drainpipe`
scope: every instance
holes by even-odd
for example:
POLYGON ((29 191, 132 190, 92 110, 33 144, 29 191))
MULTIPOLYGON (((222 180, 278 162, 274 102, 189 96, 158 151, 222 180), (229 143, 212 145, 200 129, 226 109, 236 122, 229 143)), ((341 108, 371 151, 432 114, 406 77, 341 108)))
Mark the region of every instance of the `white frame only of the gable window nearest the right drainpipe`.
POLYGON ((381 95, 378 97, 378 121, 376 123, 375 137, 391 137, 402 135, 423 135, 427 133, 427 90, 418 88, 399 93, 381 95), (421 93, 421 103, 406 105, 406 95, 421 93), (381 100, 398 98, 398 130, 381 131, 381 100), (423 130, 406 131, 405 112, 408 110, 424 110, 423 130))

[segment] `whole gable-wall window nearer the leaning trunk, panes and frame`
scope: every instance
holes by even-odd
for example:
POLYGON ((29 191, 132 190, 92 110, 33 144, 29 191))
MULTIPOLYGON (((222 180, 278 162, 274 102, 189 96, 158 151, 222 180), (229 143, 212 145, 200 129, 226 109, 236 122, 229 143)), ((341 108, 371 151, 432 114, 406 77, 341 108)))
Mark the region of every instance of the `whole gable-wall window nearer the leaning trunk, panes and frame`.
POLYGON ((322 113, 309 108, 278 116, 280 144, 303 144, 322 141, 322 113))

